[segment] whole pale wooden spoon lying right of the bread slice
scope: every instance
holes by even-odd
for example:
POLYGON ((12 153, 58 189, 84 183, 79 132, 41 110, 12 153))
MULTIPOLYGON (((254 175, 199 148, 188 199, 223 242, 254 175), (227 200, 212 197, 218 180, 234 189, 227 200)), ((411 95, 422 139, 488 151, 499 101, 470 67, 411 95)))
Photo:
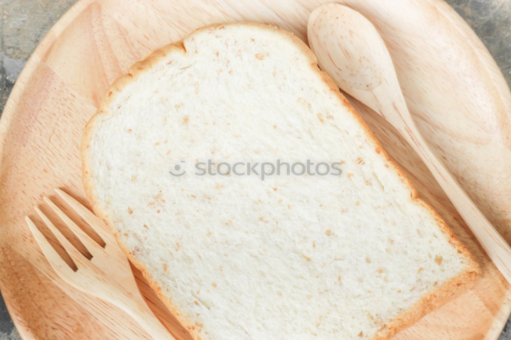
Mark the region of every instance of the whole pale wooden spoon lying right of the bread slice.
POLYGON ((307 31, 321 69, 342 90, 382 115, 410 143, 511 283, 511 248, 428 147, 408 111, 390 54, 373 24, 349 7, 326 4, 311 13, 307 31))

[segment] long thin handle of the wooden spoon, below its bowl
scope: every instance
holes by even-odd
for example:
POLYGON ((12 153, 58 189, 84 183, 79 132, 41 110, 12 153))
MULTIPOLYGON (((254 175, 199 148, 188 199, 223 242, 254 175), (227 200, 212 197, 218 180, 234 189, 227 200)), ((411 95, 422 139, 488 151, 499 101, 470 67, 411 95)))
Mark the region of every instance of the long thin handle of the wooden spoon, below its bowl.
POLYGON ((426 163, 502 276, 511 283, 511 247, 438 160, 411 118, 403 120, 399 129, 401 134, 426 163))

